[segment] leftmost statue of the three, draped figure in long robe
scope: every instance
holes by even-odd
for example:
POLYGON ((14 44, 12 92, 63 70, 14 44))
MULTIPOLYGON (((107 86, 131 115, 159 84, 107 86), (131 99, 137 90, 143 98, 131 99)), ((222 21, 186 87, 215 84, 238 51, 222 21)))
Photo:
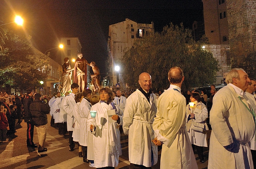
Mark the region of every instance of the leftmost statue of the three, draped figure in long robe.
POLYGON ((62 90, 61 93, 66 93, 71 91, 71 76, 72 76, 71 65, 69 64, 69 58, 64 58, 64 63, 62 64, 62 90))

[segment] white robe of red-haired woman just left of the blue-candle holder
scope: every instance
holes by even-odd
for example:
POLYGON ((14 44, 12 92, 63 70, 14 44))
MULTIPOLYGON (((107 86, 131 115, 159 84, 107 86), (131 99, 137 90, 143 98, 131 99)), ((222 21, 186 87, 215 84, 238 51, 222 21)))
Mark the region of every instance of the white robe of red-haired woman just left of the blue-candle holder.
MULTIPOLYGON (((85 98, 82 99, 80 107, 79 107, 79 116, 80 116, 80 134, 79 134, 79 144, 81 146, 87 146, 87 137, 88 131, 90 130, 90 126, 87 125, 87 118, 90 114, 91 104, 85 98)), ((90 140, 88 144, 92 145, 92 134, 90 135, 90 140)), ((91 151, 88 150, 87 152, 90 153, 91 151)), ((88 159, 87 153, 87 159, 88 159)))

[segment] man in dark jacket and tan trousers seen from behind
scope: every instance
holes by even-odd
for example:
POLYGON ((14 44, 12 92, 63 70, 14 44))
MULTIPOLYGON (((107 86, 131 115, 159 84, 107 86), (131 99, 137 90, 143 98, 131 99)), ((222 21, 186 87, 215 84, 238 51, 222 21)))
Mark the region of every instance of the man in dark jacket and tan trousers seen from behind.
POLYGON ((30 105, 30 113, 33 124, 36 126, 36 131, 38 135, 38 153, 47 151, 44 147, 46 139, 46 124, 47 115, 50 113, 50 107, 41 101, 41 94, 35 94, 35 101, 30 105))

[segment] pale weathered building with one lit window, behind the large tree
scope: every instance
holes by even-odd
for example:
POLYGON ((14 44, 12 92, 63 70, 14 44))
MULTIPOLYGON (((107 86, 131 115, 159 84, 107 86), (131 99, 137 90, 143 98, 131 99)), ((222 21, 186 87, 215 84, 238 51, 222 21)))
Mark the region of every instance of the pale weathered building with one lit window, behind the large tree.
POLYGON ((126 84, 122 79, 122 57, 128 51, 136 38, 142 38, 149 32, 154 32, 154 23, 136 23, 130 19, 125 19, 109 26, 108 52, 106 61, 109 76, 109 85, 114 90, 125 89, 126 84), (115 69, 119 66, 119 69, 115 69))

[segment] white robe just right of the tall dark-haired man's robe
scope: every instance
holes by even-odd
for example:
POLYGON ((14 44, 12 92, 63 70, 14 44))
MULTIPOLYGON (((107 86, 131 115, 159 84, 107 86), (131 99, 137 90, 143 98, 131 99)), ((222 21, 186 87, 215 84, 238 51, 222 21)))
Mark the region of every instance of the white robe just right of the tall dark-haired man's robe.
POLYGON ((73 116, 75 118, 75 125, 74 125, 74 130, 73 130, 73 133, 72 133, 72 137, 73 137, 73 141, 75 141, 75 142, 79 142, 80 121, 81 121, 79 111, 80 111, 80 102, 77 102, 75 104, 74 109, 73 109, 73 116))

